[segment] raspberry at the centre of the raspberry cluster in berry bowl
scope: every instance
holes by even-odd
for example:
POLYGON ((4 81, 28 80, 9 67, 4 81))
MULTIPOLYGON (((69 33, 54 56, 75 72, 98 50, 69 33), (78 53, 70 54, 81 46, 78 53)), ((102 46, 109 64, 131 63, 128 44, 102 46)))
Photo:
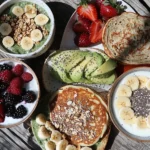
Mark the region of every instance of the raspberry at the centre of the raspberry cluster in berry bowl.
POLYGON ((10 82, 10 86, 13 87, 17 87, 17 88, 22 88, 23 86, 23 80, 20 77, 15 77, 11 80, 10 82))

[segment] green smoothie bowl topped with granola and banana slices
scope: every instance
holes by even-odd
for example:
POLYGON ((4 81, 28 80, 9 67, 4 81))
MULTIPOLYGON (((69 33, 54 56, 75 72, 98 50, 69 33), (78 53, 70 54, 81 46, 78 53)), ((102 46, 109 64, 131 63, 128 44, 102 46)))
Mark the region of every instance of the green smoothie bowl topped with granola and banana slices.
POLYGON ((0 52, 35 58, 51 46, 55 21, 42 0, 7 0, 0 5, 0 52))

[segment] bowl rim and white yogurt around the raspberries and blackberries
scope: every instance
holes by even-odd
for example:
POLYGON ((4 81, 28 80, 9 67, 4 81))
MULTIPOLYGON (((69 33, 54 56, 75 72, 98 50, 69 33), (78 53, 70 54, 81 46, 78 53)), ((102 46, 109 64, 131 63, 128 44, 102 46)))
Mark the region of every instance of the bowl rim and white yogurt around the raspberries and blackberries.
POLYGON ((22 62, 22 61, 20 61, 18 59, 13 59, 13 58, 0 59, 0 65, 1 64, 5 64, 5 63, 11 65, 12 67, 17 65, 17 64, 22 64, 23 67, 24 67, 24 71, 27 71, 30 74, 32 74, 33 79, 30 82, 25 83, 24 84, 24 88, 26 88, 26 90, 33 91, 35 93, 35 95, 36 95, 36 99, 35 99, 35 101, 33 103, 26 103, 25 101, 22 101, 22 102, 20 102, 20 103, 18 103, 16 105, 16 107, 18 107, 19 105, 23 105, 23 106, 26 107, 27 114, 23 118, 14 119, 12 117, 5 116, 4 122, 0 123, 0 128, 11 128, 11 127, 17 126, 17 125, 25 122, 31 116, 31 114, 35 110, 35 108, 36 108, 36 106, 38 104, 39 98, 40 98, 40 86, 39 86, 39 81, 38 81, 35 73, 24 62, 22 62))

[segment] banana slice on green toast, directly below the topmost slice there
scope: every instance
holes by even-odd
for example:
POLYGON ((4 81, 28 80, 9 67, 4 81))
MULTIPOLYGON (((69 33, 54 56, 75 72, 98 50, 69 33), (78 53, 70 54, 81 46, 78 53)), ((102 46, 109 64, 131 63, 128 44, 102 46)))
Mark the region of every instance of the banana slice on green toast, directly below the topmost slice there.
POLYGON ((45 128, 45 126, 40 126, 38 130, 38 137, 42 140, 50 138, 51 133, 45 128))

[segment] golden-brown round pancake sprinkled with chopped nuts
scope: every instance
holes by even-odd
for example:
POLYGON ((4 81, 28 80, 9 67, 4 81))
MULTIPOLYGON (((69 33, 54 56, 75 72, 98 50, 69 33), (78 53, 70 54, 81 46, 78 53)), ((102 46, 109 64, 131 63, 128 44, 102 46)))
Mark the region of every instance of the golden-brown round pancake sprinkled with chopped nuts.
POLYGON ((50 120, 72 144, 91 146, 103 138, 109 117, 102 97, 88 88, 69 85, 52 99, 50 120))

